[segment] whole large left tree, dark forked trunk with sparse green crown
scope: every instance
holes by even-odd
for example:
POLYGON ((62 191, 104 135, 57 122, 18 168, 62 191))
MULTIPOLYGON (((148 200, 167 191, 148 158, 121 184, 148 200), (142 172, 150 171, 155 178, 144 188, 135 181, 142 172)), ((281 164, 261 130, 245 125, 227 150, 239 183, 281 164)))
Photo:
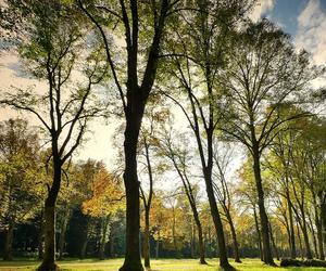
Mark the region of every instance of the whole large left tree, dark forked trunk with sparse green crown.
POLYGON ((83 39, 83 21, 73 4, 59 1, 8 1, 15 11, 17 27, 27 40, 20 56, 27 73, 46 83, 42 91, 14 89, 1 103, 33 114, 51 143, 52 182, 45 202, 45 256, 39 270, 55 270, 55 203, 61 186, 62 167, 80 144, 90 118, 103 105, 96 102, 93 86, 105 74, 98 51, 90 51, 83 39), (45 20, 46 18, 46 20, 45 20), (73 70, 80 70, 78 76, 73 70))

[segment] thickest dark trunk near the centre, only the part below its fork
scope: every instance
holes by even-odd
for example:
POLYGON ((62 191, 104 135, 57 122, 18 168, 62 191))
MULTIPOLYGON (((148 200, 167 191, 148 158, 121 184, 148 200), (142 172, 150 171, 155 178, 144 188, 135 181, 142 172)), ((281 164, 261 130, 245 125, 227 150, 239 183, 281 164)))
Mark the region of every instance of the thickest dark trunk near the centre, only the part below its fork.
MULTIPOLYGON (((134 91, 135 92, 135 91, 134 91)), ((125 261, 120 271, 142 271, 139 248, 139 181, 137 175, 137 144, 145 109, 145 101, 140 92, 134 93, 134 101, 126 109, 125 128, 125 172, 126 189, 126 253, 125 261), (138 96, 137 96, 138 95, 138 96)))

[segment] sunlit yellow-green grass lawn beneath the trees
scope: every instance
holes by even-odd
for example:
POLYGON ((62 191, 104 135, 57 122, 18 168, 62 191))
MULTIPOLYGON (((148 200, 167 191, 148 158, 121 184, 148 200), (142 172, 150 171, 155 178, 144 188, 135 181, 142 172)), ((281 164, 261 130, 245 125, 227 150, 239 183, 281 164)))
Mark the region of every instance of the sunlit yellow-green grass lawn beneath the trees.
MULTIPOLYGON (((218 259, 208 259, 208 266, 201 266, 198 263, 198 260, 193 259, 162 259, 162 260, 152 260, 152 271, 210 271, 217 270, 218 259)), ((64 271, 116 271, 123 263, 123 259, 110 259, 110 260, 98 260, 98 259, 86 259, 86 260, 62 260, 58 261, 60 270, 64 271)), ((13 270, 35 270, 39 261, 35 260, 16 260, 16 261, 0 261, 0 271, 13 271, 13 270)), ((321 271, 326 270, 325 268, 271 268, 264 266, 258 259, 244 259, 243 263, 234 263, 231 264, 239 271, 259 271, 259 270, 276 270, 276 271, 321 271)))

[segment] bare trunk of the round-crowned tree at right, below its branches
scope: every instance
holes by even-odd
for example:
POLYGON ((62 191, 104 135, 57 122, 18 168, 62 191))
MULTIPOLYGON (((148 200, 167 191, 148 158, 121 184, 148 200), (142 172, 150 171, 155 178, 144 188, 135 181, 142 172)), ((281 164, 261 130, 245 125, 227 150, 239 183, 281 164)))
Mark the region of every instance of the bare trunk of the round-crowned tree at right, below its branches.
POLYGON ((268 231, 268 217, 265 209, 264 203, 264 190, 262 185, 262 176, 261 176, 261 164, 260 164, 260 154, 258 146, 253 147, 253 171, 254 171, 254 179, 258 192, 258 205, 260 211, 260 219, 261 219, 261 231, 262 231, 262 241, 263 241, 263 261, 266 264, 275 266, 271 243, 269 243, 269 231, 268 231))

